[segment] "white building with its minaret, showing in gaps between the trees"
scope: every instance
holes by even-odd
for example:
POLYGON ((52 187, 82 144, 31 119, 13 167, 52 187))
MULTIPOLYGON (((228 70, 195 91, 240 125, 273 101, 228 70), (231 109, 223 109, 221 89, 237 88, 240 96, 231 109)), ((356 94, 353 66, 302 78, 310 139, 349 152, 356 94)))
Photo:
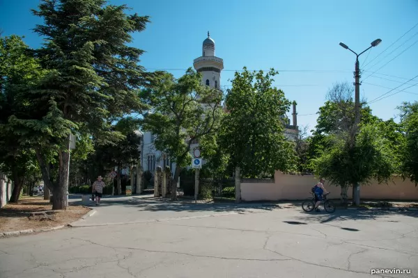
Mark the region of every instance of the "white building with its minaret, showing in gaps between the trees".
MULTIPOLYGON (((196 72, 201 72, 202 74, 202 85, 220 88, 224 60, 215 56, 215 41, 210 38, 209 32, 208 38, 203 40, 202 56, 194 59, 193 66, 196 72)), ((284 133, 289 140, 295 140, 297 136, 296 115, 296 105, 293 104, 293 125, 291 125, 290 120, 284 116, 284 122, 286 122, 286 130, 284 133)), ((175 163, 172 163, 166 154, 155 149, 153 144, 154 139, 153 134, 150 132, 144 133, 143 144, 141 145, 142 170, 154 172, 158 166, 161 166, 164 169, 166 165, 169 165, 174 174, 174 171, 176 170, 175 163)), ((192 143, 190 148, 191 154, 193 154, 194 149, 198 146, 198 142, 192 143)))

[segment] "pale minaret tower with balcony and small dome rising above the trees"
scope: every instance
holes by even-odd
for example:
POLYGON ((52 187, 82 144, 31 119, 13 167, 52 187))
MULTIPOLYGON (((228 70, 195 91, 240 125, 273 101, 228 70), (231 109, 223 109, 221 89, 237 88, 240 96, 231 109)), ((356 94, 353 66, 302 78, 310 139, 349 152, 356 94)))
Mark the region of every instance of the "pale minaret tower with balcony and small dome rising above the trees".
POLYGON ((212 88, 220 88, 221 71, 224 69, 224 60, 215 56, 215 41, 210 38, 203 40, 202 56, 194 59, 194 70, 201 72, 202 84, 212 88))

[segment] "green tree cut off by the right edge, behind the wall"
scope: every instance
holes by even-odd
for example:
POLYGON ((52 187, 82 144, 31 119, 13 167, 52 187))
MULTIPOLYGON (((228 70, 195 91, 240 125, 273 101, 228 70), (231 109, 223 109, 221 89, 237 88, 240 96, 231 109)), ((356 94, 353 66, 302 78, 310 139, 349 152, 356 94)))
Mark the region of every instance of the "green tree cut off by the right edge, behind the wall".
POLYGON ((401 130, 405 136, 401 147, 403 177, 418 184, 418 101, 404 102, 401 111, 401 130))

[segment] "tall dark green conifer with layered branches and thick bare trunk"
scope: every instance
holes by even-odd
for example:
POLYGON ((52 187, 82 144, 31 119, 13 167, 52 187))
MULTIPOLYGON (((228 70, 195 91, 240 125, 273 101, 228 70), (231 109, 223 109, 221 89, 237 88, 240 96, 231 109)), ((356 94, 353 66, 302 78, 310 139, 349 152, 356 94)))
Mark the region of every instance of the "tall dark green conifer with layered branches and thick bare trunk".
POLYGON ((141 49, 127 46, 131 33, 143 31, 148 17, 127 15, 127 7, 106 5, 103 0, 42 0, 33 15, 44 24, 36 33, 45 44, 34 53, 49 74, 36 90, 37 111, 43 116, 19 119, 31 136, 39 136, 36 152, 56 147, 59 177, 52 183, 40 161, 45 184, 53 187, 53 209, 68 205, 69 135, 84 129, 101 143, 121 140, 111 122, 127 113, 141 111, 139 88, 150 74, 139 63, 141 49))

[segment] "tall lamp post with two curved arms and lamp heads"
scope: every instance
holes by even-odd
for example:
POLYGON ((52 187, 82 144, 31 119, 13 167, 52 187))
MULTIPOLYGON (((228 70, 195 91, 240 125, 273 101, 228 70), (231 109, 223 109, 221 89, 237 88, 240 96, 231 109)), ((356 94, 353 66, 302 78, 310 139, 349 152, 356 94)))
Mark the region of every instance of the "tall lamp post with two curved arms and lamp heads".
MULTIPOLYGON (((358 125, 360 123, 360 70, 359 70, 359 56, 364 54, 364 52, 368 51, 369 49, 371 49, 372 47, 376 47, 378 46, 378 44, 380 44, 380 42, 382 42, 382 40, 377 39, 377 40, 373 40, 373 42, 371 42, 371 46, 364 50, 362 53, 357 54, 355 53, 355 51, 351 50, 347 44, 344 44, 343 42, 340 42, 339 44, 341 45, 341 47, 350 50, 351 52, 353 52, 356 56, 355 58, 355 72, 354 72, 354 78, 355 78, 355 120, 354 120, 354 130, 353 130, 353 143, 355 140, 355 136, 357 134, 357 130, 358 130, 358 125)), ((358 206, 360 204, 360 186, 359 183, 356 183, 355 185, 353 185, 353 199, 355 204, 358 206)))

